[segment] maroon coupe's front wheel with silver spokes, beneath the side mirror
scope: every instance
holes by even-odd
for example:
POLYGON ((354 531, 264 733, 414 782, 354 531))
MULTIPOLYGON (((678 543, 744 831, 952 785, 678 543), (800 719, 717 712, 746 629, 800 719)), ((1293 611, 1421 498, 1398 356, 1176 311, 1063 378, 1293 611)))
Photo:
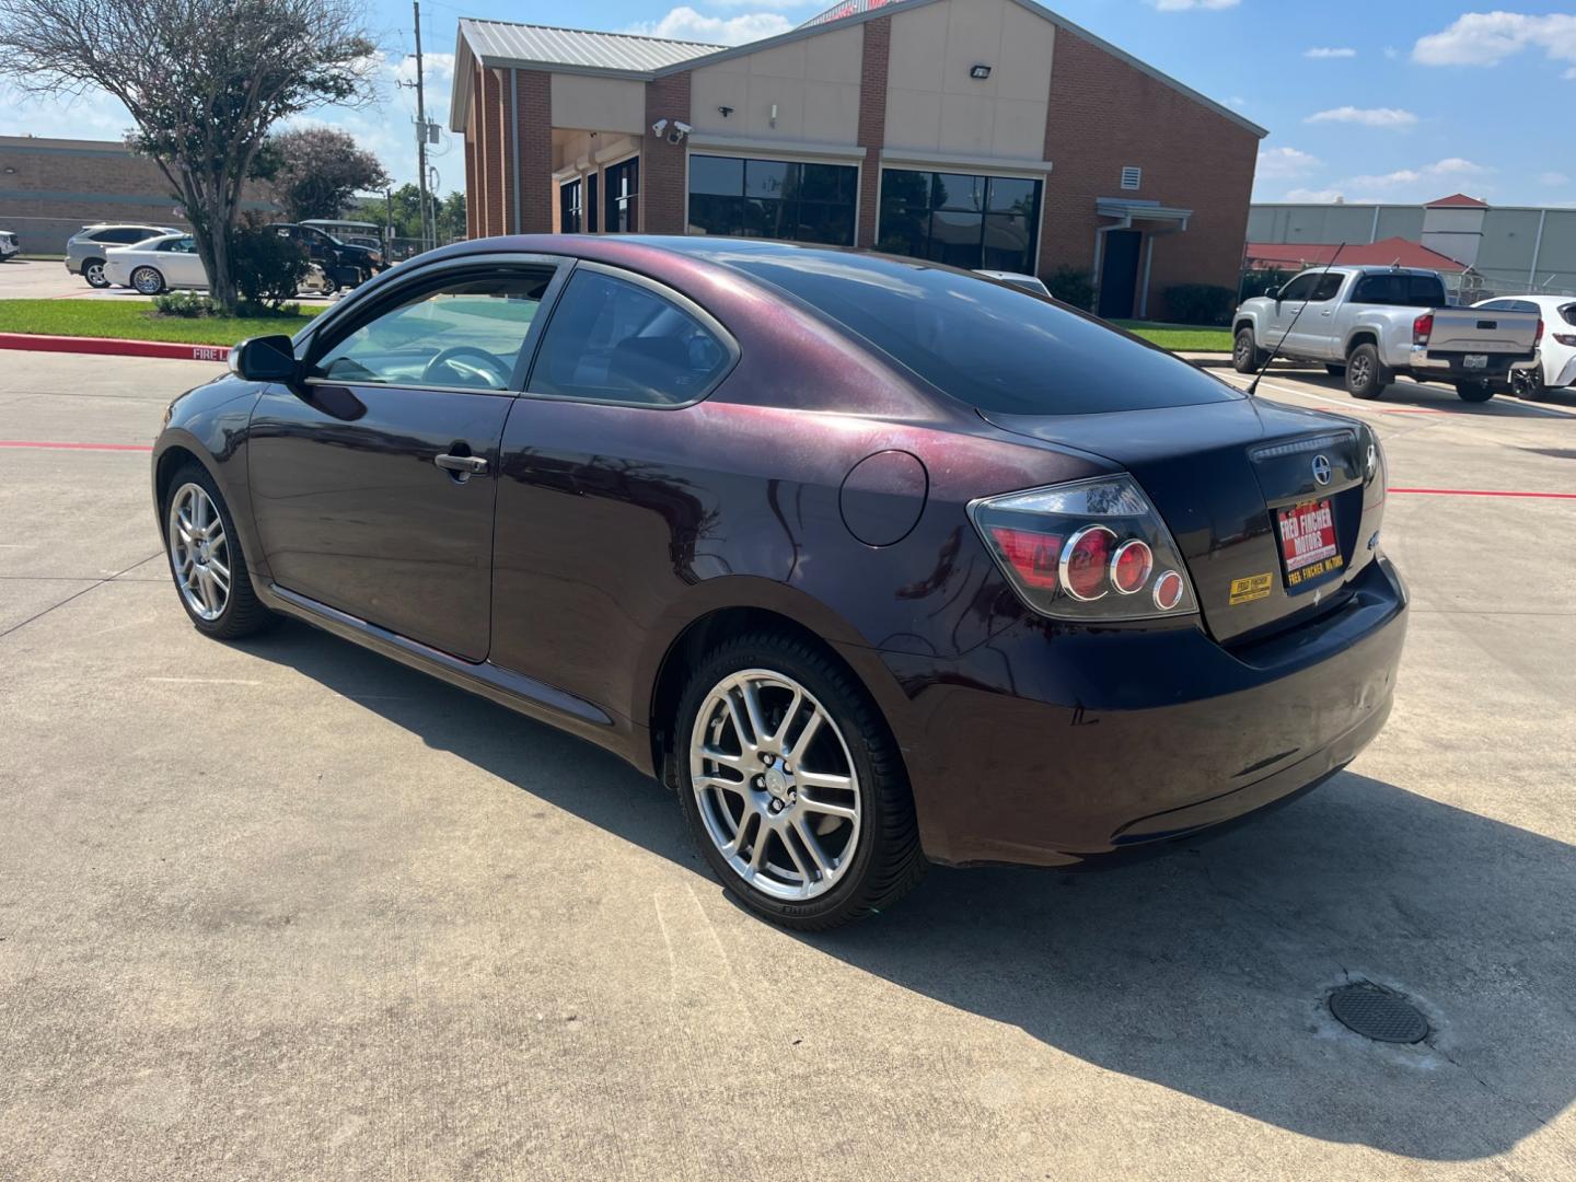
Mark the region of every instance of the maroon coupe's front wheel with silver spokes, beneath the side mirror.
POLYGON ((197 463, 188 463, 170 481, 164 542, 175 591, 199 632, 235 640, 274 623, 252 591, 230 509, 213 476, 197 463))

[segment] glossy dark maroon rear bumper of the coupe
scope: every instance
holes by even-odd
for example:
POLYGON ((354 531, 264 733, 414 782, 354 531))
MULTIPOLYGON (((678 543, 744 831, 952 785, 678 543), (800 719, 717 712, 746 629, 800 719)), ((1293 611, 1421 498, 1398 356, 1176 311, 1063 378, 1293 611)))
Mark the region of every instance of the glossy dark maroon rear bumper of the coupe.
POLYGON ((1379 733, 1404 637, 1379 559, 1329 615, 1242 649, 1034 621, 955 662, 884 654, 913 706, 894 730, 925 853, 1073 865, 1275 804, 1379 733))

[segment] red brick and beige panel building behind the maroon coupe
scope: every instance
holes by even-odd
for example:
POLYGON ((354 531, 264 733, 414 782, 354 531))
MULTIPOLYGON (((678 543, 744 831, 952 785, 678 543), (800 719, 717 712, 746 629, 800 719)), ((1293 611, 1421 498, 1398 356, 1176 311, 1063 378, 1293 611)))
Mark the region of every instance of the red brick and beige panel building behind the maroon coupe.
POLYGON ((1266 134, 1029 0, 849 0, 738 47, 463 19, 473 236, 716 233, 1234 287, 1266 134))

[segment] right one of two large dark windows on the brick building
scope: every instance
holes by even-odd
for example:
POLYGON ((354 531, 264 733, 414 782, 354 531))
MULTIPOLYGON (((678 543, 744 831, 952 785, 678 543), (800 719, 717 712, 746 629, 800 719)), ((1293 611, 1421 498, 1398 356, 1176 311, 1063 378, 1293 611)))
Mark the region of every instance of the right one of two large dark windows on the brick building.
POLYGON ((876 249, 1034 274, 1040 184, 1021 177, 884 169, 876 249))

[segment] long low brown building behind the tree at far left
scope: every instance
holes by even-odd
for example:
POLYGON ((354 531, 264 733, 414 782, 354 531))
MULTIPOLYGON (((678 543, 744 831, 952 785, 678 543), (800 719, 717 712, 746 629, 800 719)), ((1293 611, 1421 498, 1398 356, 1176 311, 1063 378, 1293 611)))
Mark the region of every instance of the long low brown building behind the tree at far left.
MULTIPOLYGON (((247 200, 243 208, 274 206, 247 200)), ((0 136, 0 229, 16 230, 24 251, 61 254, 95 222, 188 229, 164 173, 125 143, 0 136)))

